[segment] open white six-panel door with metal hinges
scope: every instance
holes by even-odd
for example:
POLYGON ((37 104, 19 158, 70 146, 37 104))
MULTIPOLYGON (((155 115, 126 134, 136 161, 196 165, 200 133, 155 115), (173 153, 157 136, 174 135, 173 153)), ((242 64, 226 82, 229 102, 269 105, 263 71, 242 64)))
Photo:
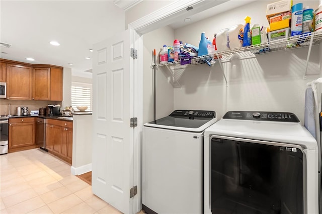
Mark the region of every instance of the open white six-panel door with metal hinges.
POLYGON ((93 193, 123 213, 133 212, 133 58, 130 31, 94 46, 93 193))

